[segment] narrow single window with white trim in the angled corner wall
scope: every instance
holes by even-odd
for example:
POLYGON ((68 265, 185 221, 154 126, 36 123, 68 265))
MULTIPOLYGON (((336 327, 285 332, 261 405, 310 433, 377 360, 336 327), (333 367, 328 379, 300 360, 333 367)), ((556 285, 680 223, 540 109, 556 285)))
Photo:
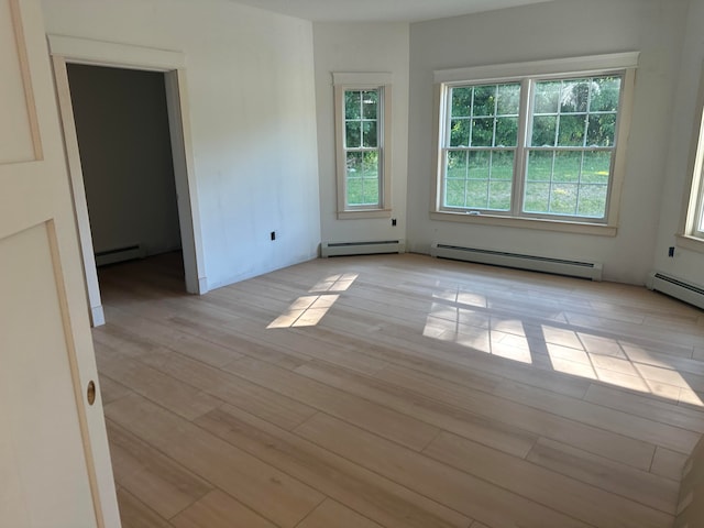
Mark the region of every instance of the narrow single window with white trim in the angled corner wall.
POLYGON ((333 74, 338 218, 391 216, 391 75, 333 74))

